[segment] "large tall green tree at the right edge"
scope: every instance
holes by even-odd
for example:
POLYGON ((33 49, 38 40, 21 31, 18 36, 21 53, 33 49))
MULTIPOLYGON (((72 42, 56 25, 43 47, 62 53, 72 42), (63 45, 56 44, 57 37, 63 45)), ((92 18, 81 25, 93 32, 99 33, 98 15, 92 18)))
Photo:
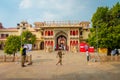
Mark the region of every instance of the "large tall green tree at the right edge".
POLYGON ((91 34, 88 42, 92 46, 108 48, 108 54, 114 48, 120 48, 120 4, 111 9, 98 7, 92 17, 91 34))

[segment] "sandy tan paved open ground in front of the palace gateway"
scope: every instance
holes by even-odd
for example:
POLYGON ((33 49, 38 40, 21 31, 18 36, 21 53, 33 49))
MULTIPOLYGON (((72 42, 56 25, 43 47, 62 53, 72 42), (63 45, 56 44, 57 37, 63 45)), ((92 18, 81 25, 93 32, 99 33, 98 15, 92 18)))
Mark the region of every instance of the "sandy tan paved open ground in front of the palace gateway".
POLYGON ((120 80, 120 62, 87 63, 85 54, 67 52, 56 66, 56 53, 29 52, 33 65, 24 68, 20 62, 0 63, 0 80, 120 80))

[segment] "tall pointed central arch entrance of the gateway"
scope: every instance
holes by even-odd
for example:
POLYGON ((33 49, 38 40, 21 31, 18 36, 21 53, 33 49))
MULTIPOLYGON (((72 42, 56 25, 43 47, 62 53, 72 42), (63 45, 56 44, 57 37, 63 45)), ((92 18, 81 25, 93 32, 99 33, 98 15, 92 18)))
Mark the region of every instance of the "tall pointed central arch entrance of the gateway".
POLYGON ((58 32, 55 36, 55 50, 61 48, 67 50, 67 34, 65 32, 58 32))

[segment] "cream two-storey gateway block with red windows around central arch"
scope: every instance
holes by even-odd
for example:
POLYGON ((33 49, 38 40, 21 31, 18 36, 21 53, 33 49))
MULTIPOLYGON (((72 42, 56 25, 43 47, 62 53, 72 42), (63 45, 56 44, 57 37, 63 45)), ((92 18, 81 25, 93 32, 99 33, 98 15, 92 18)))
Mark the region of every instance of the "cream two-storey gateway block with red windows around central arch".
POLYGON ((35 30, 41 32, 40 38, 44 42, 44 45, 39 45, 40 49, 51 52, 61 47, 63 50, 77 52, 80 42, 87 39, 88 26, 89 22, 36 22, 35 30))

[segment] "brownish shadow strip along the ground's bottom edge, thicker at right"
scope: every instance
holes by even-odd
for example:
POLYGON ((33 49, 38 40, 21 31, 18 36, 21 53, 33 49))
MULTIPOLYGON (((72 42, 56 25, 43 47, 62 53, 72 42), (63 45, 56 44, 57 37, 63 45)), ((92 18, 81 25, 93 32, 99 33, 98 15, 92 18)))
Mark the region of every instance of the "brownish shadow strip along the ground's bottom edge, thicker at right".
MULTIPOLYGON (((5 80, 120 80, 120 73, 96 72, 96 73, 71 73, 65 75, 53 75, 52 78, 10 78, 5 80)), ((3 79, 4 80, 4 79, 3 79)))

